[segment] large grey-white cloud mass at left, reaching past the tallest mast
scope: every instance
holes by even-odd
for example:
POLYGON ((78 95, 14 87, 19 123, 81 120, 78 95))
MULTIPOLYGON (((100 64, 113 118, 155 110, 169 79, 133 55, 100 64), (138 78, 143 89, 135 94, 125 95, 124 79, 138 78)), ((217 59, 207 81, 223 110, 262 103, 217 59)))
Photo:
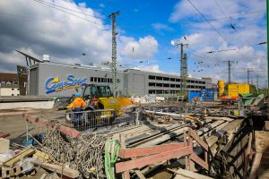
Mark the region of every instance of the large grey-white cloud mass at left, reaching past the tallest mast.
MULTIPOLYGON (((47 2, 58 5, 58 9, 63 6, 73 11, 62 9, 67 12, 64 13, 35 1, 0 1, 3 9, 0 16, 0 70, 13 72, 16 69, 14 64, 26 65, 24 57, 14 52, 15 49, 39 57, 48 54, 53 62, 58 63, 89 64, 111 60, 111 30, 102 14, 72 0, 47 2)), ((120 34, 118 38, 130 39, 118 42, 118 52, 123 48, 127 59, 152 57, 158 47, 157 40, 150 36, 138 41, 120 34), (147 46, 146 42, 156 47, 147 46), (127 52, 131 44, 135 46, 134 54, 127 52)), ((121 54, 118 55, 121 59, 121 54)))

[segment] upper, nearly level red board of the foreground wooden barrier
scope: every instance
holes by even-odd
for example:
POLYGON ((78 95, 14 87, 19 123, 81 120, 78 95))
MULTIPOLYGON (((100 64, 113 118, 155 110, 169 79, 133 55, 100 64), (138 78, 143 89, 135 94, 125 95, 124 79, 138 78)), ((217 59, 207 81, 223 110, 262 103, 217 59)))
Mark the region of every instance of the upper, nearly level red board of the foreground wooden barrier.
POLYGON ((161 152, 167 152, 172 149, 179 149, 184 147, 184 143, 170 143, 159 146, 143 147, 143 148, 131 148, 131 149, 120 149, 119 158, 134 158, 139 156, 146 156, 152 154, 158 154, 161 152))

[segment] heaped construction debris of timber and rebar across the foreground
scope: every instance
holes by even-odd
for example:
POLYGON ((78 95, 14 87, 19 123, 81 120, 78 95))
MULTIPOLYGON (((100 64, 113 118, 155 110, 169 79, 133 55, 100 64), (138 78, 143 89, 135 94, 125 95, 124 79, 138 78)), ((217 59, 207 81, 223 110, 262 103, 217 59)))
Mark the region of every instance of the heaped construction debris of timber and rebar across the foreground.
MULTIPOLYGON (((147 101, 152 102, 152 97, 147 101)), ((46 116, 24 114, 27 126, 37 124, 42 132, 35 133, 37 136, 27 131, 28 140, 35 142, 25 143, 35 146, 26 148, 0 141, 6 144, 1 145, 1 175, 8 178, 41 172, 40 178, 144 179, 159 173, 169 179, 262 177, 266 172, 260 172, 260 164, 266 164, 263 158, 267 158, 268 134, 253 132, 251 117, 263 116, 264 112, 252 110, 242 105, 154 103, 125 110, 126 116, 113 123, 88 124, 83 130, 46 116), (134 118, 133 123, 130 118, 134 118), (254 142, 259 144, 255 147, 254 142)), ((108 113, 83 113, 90 114, 95 117, 91 120, 98 122, 108 113)))

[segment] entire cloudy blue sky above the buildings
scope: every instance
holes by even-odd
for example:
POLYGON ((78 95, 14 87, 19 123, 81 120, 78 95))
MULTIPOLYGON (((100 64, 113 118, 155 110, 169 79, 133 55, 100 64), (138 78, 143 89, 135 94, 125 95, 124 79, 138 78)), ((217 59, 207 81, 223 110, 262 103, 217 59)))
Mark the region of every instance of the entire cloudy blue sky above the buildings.
POLYGON ((8 0, 0 1, 0 72, 26 65, 15 50, 52 62, 111 61, 111 20, 117 16, 121 68, 180 73, 180 48, 191 77, 265 85, 265 0, 8 0), (174 46, 171 44, 174 41, 174 46), (209 53, 213 52, 213 53, 209 53), (82 55, 85 54, 85 55, 82 55))

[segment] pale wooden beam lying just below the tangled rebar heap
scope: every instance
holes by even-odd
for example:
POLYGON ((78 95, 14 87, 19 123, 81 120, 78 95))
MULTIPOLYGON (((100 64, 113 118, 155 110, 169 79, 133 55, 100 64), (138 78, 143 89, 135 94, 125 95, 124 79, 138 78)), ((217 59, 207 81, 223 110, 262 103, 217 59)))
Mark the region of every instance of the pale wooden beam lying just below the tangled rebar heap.
POLYGON ((79 171, 71 169, 71 168, 66 168, 62 166, 58 166, 55 164, 49 164, 49 163, 42 163, 41 165, 43 168, 48 169, 52 172, 56 172, 57 174, 62 174, 65 176, 68 176, 70 178, 76 178, 80 175, 79 171))

